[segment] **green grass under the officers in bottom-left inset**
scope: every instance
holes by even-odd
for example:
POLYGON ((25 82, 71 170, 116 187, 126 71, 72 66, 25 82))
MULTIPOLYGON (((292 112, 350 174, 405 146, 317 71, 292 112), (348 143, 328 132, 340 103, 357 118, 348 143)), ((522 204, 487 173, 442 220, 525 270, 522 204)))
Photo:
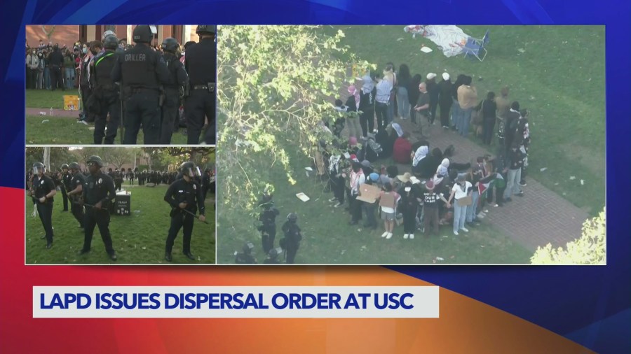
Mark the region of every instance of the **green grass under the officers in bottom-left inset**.
MULTIPOLYGON (((55 195, 53 248, 46 250, 46 240, 39 216, 32 218, 33 203, 26 197, 26 263, 27 264, 170 264, 164 260, 165 241, 170 226, 170 206, 163 200, 165 185, 154 188, 123 185, 131 191, 130 216, 111 215, 109 230, 118 253, 112 262, 98 231, 95 228, 92 252, 77 255, 83 247, 83 230, 79 229, 72 213, 62 212, 63 200, 60 192, 55 195)), ((215 264, 215 220, 212 200, 206 200, 208 222, 194 221, 191 252, 198 258, 191 261, 182 254, 182 230, 173 246, 172 264, 215 264)))

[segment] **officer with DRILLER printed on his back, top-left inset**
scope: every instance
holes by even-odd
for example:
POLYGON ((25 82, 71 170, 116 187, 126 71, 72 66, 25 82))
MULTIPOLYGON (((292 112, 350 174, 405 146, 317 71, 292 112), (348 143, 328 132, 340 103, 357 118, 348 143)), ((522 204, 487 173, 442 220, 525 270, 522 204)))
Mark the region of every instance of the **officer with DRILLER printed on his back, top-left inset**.
POLYGON ((123 88, 123 144, 135 145, 142 127, 144 144, 160 142, 160 87, 168 83, 169 72, 164 59, 151 49, 154 38, 147 25, 136 26, 133 48, 118 57, 111 72, 114 82, 123 88))

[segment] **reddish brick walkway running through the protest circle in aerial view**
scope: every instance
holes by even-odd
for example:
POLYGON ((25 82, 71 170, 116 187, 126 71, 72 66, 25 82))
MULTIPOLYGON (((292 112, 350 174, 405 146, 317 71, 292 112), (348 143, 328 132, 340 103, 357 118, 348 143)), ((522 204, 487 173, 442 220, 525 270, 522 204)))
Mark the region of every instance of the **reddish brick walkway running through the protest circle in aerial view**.
MULTIPOLYGON (((343 92, 346 92, 346 87, 343 87, 343 92)), ((347 96, 348 93, 341 94, 341 97, 347 96)), ((401 125, 404 132, 411 134, 412 143, 419 140, 419 134, 414 132, 418 127, 412 122, 397 118, 395 122, 401 125)), ((447 146, 453 145, 456 148, 453 160, 459 163, 470 162, 470 159, 475 162, 476 157, 484 154, 494 155, 451 129, 442 129, 437 123, 435 122, 430 129, 423 125, 423 135, 428 137, 430 150, 440 148, 444 151, 447 146)), ((346 134, 346 129, 342 134, 346 134)), ((376 165, 379 165, 379 162, 376 165)), ((411 166, 398 167, 400 173, 411 169, 411 166)), ((529 250, 536 250, 537 246, 545 246, 548 243, 552 243, 553 247, 565 246, 566 243, 581 236, 583 222, 588 218, 588 213, 533 178, 527 176, 526 179, 528 185, 522 187, 524 197, 515 196, 512 202, 502 207, 494 208, 487 205, 484 209, 489 213, 482 222, 493 225, 529 250)))

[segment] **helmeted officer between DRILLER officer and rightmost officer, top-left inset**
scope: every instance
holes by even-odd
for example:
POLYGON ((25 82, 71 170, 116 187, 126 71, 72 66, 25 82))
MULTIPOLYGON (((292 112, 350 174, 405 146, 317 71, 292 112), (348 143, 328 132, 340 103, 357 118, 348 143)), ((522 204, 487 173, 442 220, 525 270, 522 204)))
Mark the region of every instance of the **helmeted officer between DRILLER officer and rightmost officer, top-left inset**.
POLYGON ((189 85, 189 76, 184 70, 184 65, 179 62, 179 43, 175 38, 165 38, 161 46, 164 51, 164 59, 169 71, 169 82, 164 85, 164 105, 162 106, 162 132, 160 143, 169 145, 175 129, 175 120, 179 112, 180 87, 184 94, 184 87, 189 85))

